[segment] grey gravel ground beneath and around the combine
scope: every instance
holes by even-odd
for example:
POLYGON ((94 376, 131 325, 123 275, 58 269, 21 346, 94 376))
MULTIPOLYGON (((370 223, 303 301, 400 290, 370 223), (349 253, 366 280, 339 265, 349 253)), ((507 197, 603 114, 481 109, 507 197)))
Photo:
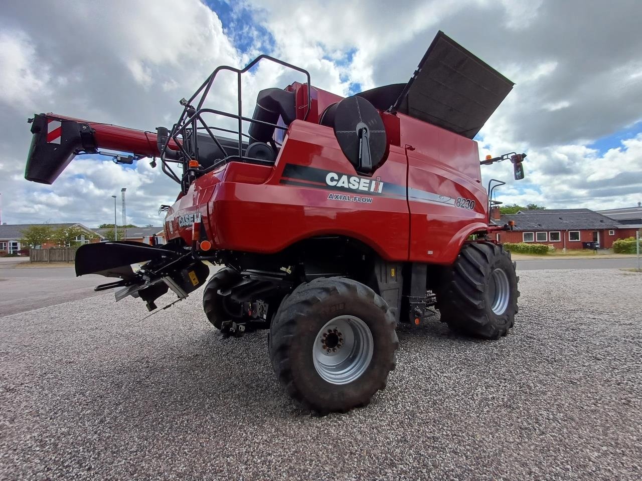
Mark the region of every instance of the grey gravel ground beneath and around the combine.
POLYGON ((195 295, 2 317, 1 479, 639 480, 642 275, 521 273, 500 341, 400 328, 369 407, 290 401, 266 333, 221 339, 195 295), (134 320, 132 320, 134 319, 134 320))

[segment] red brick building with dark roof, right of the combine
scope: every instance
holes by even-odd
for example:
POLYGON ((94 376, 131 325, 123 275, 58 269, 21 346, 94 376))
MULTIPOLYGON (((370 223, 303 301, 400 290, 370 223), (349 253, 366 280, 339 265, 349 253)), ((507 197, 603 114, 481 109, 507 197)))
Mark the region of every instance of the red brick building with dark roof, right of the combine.
POLYGON ((585 242, 597 242, 598 248, 610 249, 613 242, 636 235, 636 228, 589 209, 520 210, 517 214, 491 212, 494 223, 514 221, 514 230, 497 235, 500 242, 534 242, 555 249, 582 249, 585 242))

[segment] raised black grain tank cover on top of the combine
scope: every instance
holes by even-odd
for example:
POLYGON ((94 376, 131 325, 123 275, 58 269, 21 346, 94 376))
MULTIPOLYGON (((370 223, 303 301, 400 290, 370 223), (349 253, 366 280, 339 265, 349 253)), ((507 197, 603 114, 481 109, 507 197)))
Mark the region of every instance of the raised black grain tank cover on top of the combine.
POLYGON ((390 108, 473 139, 513 85, 439 31, 408 83, 357 95, 380 110, 390 108))

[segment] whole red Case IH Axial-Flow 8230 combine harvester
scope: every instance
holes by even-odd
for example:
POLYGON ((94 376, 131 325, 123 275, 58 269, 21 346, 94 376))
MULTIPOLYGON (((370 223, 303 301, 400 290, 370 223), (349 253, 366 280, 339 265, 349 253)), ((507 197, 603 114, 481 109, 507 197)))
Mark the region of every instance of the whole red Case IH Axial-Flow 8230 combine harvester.
MULTIPOLYGON (((489 223, 472 140, 512 86, 442 32, 408 83, 347 98, 259 56, 243 70, 218 67, 181 101, 169 130, 35 115, 25 176, 53 183, 75 155, 98 149, 132 154, 118 162, 158 160, 180 185, 164 206, 168 242, 82 246, 76 274, 117 278, 96 290, 141 298, 149 310, 169 290, 182 299, 204 285, 217 329, 270 329, 272 364, 290 396, 345 412, 385 387, 395 326, 421 323, 428 307, 489 339, 512 327, 518 278, 510 254, 488 240, 507 227, 489 223), (262 90, 243 117, 241 76, 261 60, 307 81, 262 90), (204 107, 221 71, 236 73, 238 112, 204 107), (216 116, 238 127, 215 128, 216 116), (204 260, 225 267, 208 281, 204 260)), ((481 164, 508 159, 523 178, 523 156, 481 164)))

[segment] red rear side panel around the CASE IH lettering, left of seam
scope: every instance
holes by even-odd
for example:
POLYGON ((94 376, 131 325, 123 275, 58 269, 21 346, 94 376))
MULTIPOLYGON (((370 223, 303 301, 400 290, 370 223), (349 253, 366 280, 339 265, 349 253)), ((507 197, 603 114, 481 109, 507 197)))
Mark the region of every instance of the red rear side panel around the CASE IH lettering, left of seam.
MULTIPOLYGON (((197 202, 213 192, 207 212, 204 206, 200 212, 207 219, 204 224, 214 248, 275 253, 308 237, 335 234, 358 239, 386 259, 408 258, 408 203, 404 197, 372 196, 370 204, 331 200, 327 185, 291 179, 284 174, 286 165, 356 176, 331 128, 295 121, 274 167, 230 162, 193 183, 168 212, 172 226, 166 227, 168 238, 180 235, 186 241, 191 239, 191 226, 180 228, 177 217, 196 212, 197 202), (257 184, 265 169, 270 174, 257 184), (238 181, 242 178, 246 181, 238 181), (283 183, 288 180, 308 185, 283 183)), ((403 150, 394 148, 373 177, 404 185, 406 168, 403 150)))

